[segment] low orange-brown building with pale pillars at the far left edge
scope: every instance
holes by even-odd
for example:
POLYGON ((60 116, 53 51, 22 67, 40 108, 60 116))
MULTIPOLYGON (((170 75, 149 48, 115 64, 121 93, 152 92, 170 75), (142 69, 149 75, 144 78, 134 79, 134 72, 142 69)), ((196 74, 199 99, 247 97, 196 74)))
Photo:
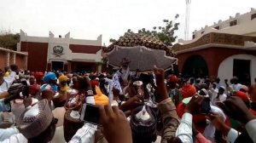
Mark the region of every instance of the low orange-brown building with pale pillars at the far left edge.
POLYGON ((15 64, 19 69, 26 70, 27 53, 0 48, 0 69, 15 64))

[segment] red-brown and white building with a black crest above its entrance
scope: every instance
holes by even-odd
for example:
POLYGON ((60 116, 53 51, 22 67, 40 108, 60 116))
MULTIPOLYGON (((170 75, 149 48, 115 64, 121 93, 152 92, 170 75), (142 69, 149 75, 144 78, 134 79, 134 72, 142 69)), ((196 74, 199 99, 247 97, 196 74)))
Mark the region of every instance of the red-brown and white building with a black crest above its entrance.
POLYGON ((27 69, 30 71, 101 71, 102 36, 96 40, 73 39, 68 32, 65 37, 27 36, 20 30, 17 50, 27 52, 27 69))

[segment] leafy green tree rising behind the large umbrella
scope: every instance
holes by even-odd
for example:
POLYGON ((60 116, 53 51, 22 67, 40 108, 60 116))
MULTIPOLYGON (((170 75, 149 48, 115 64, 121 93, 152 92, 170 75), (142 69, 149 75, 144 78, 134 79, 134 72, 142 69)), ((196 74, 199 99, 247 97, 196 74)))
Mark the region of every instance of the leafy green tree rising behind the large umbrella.
MULTIPOLYGON (((159 40, 165 43, 168 46, 172 46, 172 43, 175 42, 177 36, 174 36, 174 32, 178 30, 179 23, 176 23, 175 20, 178 18, 178 14, 175 15, 174 20, 163 20, 164 26, 154 26, 152 30, 147 30, 146 28, 142 28, 141 30, 137 31, 138 33, 147 34, 150 36, 158 37, 159 40)), ((134 34, 134 31, 128 29, 124 36, 129 34, 134 34)), ((111 38, 109 40, 110 43, 114 43, 117 40, 111 38)))

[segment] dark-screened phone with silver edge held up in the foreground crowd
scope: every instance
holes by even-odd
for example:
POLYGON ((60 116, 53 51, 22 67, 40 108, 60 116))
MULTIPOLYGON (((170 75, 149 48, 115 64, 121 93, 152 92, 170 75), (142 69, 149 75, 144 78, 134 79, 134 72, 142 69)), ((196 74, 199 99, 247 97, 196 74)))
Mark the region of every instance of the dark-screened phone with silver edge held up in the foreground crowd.
POLYGON ((95 125, 102 126, 100 124, 99 106, 84 103, 80 120, 84 121, 85 123, 92 123, 95 125))

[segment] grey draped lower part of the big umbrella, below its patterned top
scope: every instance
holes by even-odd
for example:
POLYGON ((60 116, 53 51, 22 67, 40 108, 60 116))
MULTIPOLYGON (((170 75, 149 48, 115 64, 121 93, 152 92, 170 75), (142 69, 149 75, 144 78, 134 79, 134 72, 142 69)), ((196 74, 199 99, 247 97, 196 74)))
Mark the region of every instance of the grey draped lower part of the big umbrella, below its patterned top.
POLYGON ((139 72, 151 72, 154 65, 169 70, 172 68, 172 64, 177 62, 177 58, 166 56, 165 50, 148 49, 144 46, 115 46, 107 55, 111 66, 120 66, 120 60, 124 58, 131 60, 129 68, 134 72, 137 70, 139 72))

